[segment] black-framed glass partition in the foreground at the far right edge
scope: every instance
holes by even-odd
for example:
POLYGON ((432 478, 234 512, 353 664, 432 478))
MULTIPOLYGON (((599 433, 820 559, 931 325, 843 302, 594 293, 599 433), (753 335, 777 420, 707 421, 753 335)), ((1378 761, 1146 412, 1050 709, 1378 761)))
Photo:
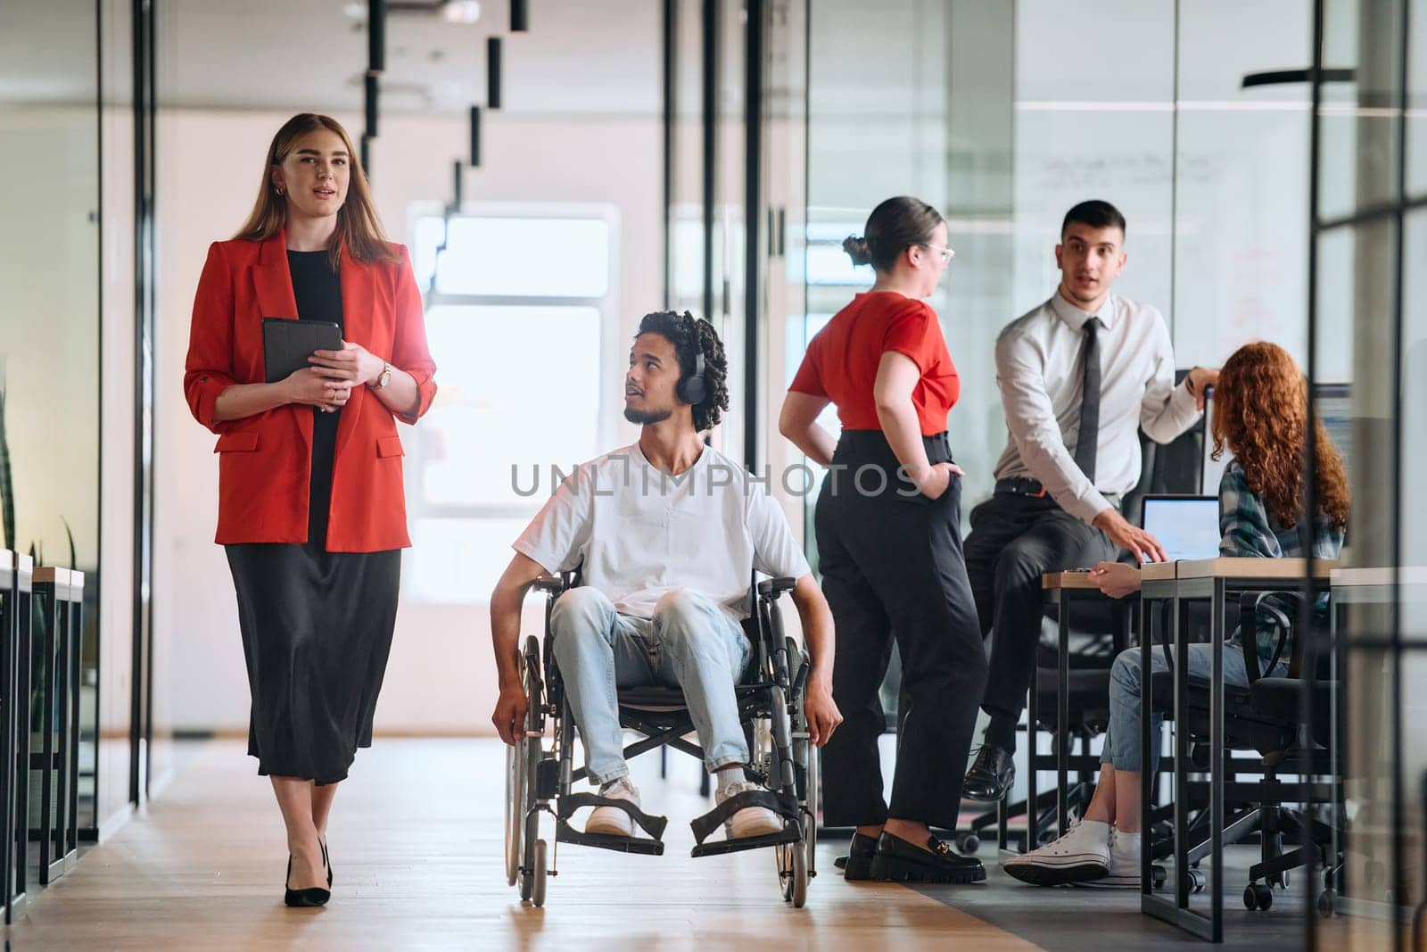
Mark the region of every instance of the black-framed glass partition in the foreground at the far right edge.
MULTIPOLYGON (((1320 946, 1427 941, 1427 3, 1319 0, 1314 374, 1351 368, 1350 550, 1327 652, 1336 834, 1320 946), (1343 330, 1339 330, 1343 328, 1343 330), (1346 351, 1346 353, 1343 353, 1346 351)), ((1314 695, 1317 699, 1317 695, 1314 695)))

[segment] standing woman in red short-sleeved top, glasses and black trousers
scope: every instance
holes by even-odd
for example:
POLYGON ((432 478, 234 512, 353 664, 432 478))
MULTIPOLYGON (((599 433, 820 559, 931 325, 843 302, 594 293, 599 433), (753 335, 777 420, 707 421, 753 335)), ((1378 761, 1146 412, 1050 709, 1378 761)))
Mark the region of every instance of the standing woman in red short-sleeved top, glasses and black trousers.
POLYGON ((843 248, 872 264, 870 291, 808 344, 779 430, 831 467, 815 528, 822 588, 836 621, 832 694, 845 712, 823 748, 823 814, 858 828, 848 879, 976 882, 980 862, 950 851, 929 826, 956 828, 962 775, 986 657, 960 535, 960 470, 946 415, 960 380, 936 313, 952 250, 946 221, 916 198, 888 198, 862 238, 843 248), (838 407, 842 435, 816 424, 838 407), (878 688, 892 639, 902 657, 903 711, 892 804, 882 798, 878 688))

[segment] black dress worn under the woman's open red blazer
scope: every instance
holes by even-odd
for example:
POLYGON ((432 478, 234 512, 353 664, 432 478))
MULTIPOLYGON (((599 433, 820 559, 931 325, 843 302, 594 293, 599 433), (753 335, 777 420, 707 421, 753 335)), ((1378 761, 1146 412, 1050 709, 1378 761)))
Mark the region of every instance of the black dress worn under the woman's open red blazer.
MULTIPOLYGON (((325 251, 288 251, 297 315, 342 324, 325 251)), ((253 708, 258 774, 335 784, 371 721, 397 622, 401 551, 328 552, 327 517, 341 411, 313 408, 307 542, 228 545, 253 708)))

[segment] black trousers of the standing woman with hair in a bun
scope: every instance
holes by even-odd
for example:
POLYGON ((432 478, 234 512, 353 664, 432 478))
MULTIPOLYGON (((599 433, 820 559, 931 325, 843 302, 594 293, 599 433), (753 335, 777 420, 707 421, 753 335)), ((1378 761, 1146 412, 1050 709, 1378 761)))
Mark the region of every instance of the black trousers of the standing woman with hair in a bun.
MULTIPOLYGON (((932 462, 950 460, 945 434, 928 437, 926 448, 932 462)), ((908 484, 898 480, 896 457, 875 430, 845 431, 833 467, 815 511, 822 589, 836 622, 832 694, 843 715, 822 751, 823 819, 862 826, 890 815, 955 829, 986 684, 962 558, 960 480, 952 477, 938 500, 898 495, 908 484), (878 688, 893 638, 905 709, 889 811, 878 688)))

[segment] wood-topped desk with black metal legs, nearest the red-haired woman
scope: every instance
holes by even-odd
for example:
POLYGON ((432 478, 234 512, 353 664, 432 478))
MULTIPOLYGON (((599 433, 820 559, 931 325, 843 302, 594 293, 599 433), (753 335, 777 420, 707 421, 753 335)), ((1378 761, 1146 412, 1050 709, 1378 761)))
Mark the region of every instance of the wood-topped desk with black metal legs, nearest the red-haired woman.
MULTIPOLYGON (((1314 588, 1326 585, 1331 569, 1337 568, 1336 561, 1314 559, 1313 584, 1314 588)), ((1210 942, 1222 942, 1224 935, 1224 638, 1227 594, 1230 591, 1257 589, 1287 589, 1297 588, 1297 582, 1307 578, 1309 564, 1303 558, 1207 558, 1187 559, 1173 565, 1146 565, 1142 569, 1140 601, 1144 619, 1150 618, 1150 605, 1164 601, 1166 595, 1172 604, 1170 628, 1173 634, 1174 654, 1174 898, 1156 895, 1153 879, 1150 878, 1150 851, 1143 851, 1140 866, 1140 909, 1157 919, 1197 935, 1210 942), (1213 645, 1213 662, 1210 668, 1209 685, 1209 861, 1210 876, 1213 879, 1209 902, 1210 913, 1204 916, 1190 909, 1189 895, 1199 892, 1204 879, 1199 871, 1190 871, 1189 844, 1186 831, 1189 828, 1189 751, 1187 736, 1183 725, 1187 724, 1189 711, 1189 602, 1210 602, 1210 644, 1213 645)), ((1149 647, 1152 639, 1146 639, 1149 647)), ((1153 712, 1153 678, 1149 651, 1140 652, 1142 674, 1142 708, 1140 725, 1143 731, 1142 749, 1143 769, 1140 772, 1140 795, 1143 804, 1150 804, 1150 715, 1153 712)))

